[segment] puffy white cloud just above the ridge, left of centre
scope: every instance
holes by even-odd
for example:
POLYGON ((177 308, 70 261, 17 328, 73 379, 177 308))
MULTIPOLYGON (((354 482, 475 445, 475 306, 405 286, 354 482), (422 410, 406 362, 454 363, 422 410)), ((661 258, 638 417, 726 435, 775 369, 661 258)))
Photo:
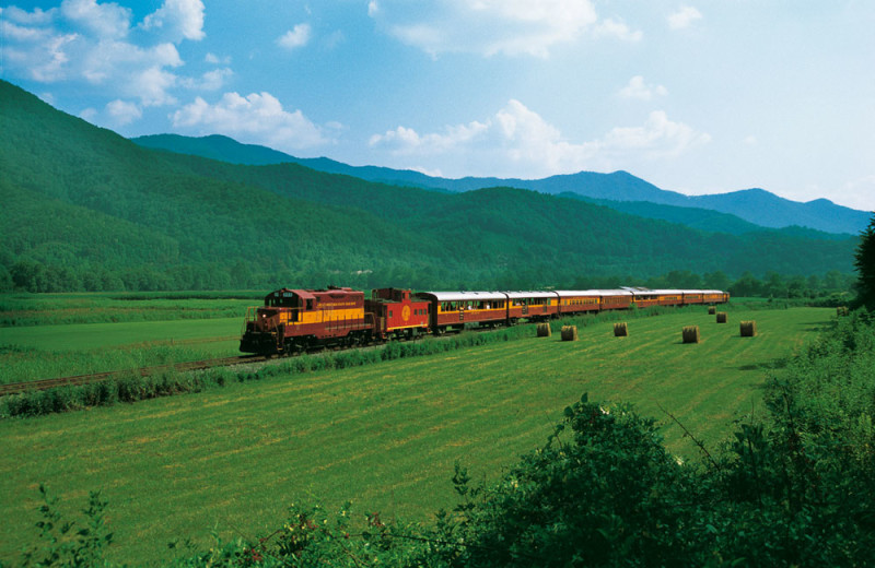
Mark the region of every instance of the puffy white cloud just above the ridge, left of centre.
POLYGON ((301 110, 283 109, 270 93, 252 93, 245 97, 225 93, 214 105, 197 97, 171 118, 174 128, 205 134, 222 133, 279 150, 301 150, 334 142, 301 110))

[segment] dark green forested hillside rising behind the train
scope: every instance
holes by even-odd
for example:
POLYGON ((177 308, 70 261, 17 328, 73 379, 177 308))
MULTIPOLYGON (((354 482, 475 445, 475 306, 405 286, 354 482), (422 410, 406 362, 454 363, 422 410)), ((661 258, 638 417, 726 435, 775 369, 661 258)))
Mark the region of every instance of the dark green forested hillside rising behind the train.
POLYGON ((584 286, 850 272, 855 238, 733 236, 514 188, 441 193, 153 151, 0 82, 0 283, 33 291, 584 286))

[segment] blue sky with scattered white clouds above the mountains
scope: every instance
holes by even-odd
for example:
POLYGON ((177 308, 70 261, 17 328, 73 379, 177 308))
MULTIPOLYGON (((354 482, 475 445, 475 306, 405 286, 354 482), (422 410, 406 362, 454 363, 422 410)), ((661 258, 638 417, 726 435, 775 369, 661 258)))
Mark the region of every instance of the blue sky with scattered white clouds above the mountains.
POLYGON ((125 137, 875 210, 871 0, 0 0, 0 76, 125 137))

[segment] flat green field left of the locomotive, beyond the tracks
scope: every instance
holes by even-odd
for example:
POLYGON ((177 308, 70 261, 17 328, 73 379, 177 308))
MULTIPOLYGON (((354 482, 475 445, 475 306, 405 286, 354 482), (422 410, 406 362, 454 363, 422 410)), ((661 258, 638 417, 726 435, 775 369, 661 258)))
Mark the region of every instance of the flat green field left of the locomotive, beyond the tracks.
POLYGON ((191 294, 0 295, 0 384, 238 354, 258 300, 191 294))

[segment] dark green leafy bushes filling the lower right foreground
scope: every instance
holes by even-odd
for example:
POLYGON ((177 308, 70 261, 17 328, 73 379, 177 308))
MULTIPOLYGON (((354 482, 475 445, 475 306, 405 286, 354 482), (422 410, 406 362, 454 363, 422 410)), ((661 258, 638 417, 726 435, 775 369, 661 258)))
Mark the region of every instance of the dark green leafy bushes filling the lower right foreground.
MULTIPOLYGON (((315 364, 312 359, 295 360, 315 364)), ((731 442, 710 450, 701 445, 701 462, 682 463, 666 451, 652 418, 584 395, 565 409, 546 445, 497 482, 472 483, 457 465, 453 483, 460 502, 452 512, 439 511, 434 523, 386 520, 376 512, 353 517, 349 504, 332 512, 295 504, 272 533, 217 541, 209 551, 189 551, 175 561, 872 565, 875 327, 870 313, 837 318, 785 369, 773 372, 766 402, 766 417, 739 419, 731 442)), ((56 549, 57 541, 49 542, 46 549, 56 549)))

